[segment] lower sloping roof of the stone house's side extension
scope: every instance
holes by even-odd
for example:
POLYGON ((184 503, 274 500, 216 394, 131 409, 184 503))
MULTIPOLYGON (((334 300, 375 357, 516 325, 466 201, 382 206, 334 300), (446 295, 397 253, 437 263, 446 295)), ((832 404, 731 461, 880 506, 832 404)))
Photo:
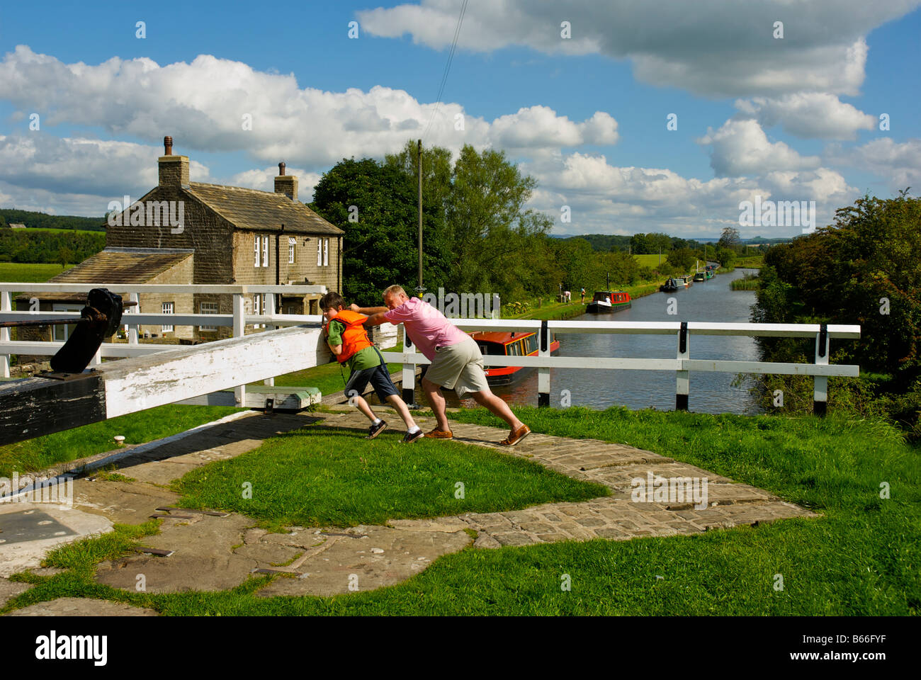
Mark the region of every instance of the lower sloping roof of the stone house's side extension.
MULTIPOLYGON (((191 250, 177 248, 106 248, 53 276, 47 283, 143 284, 192 257, 192 253, 191 250)), ((87 292, 91 287, 87 286, 87 292)), ((28 293, 17 296, 17 299, 28 298, 86 301, 87 293, 28 293)))

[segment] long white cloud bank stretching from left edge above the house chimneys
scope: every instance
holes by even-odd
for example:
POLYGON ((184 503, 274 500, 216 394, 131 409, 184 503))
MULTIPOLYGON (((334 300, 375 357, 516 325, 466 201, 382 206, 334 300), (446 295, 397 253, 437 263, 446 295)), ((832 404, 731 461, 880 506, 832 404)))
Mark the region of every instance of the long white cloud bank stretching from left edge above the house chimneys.
POLYGON ((177 153, 243 150, 262 163, 284 158, 310 170, 399 151, 430 120, 426 144, 452 152, 464 144, 537 149, 617 140, 616 121, 602 111, 578 123, 534 106, 489 123, 460 104, 423 104, 400 89, 302 89, 294 76, 206 54, 191 64, 113 57, 93 66, 18 45, 0 63, 0 99, 39 111, 43 125, 92 126, 149 143, 171 135, 177 153))

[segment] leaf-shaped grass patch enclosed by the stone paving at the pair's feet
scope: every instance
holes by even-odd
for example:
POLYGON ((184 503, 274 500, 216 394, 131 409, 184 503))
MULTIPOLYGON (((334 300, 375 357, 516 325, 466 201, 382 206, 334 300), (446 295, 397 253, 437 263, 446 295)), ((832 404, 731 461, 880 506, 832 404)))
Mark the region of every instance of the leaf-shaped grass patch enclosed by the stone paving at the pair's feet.
POLYGON ((373 441, 364 439, 364 428, 300 428, 193 470, 173 490, 183 494, 183 507, 241 512, 273 529, 516 510, 609 493, 480 446, 433 440, 406 446, 399 417, 388 419, 393 428, 373 441), (464 498, 455 498, 458 482, 464 498), (251 498, 241 493, 246 483, 251 498))

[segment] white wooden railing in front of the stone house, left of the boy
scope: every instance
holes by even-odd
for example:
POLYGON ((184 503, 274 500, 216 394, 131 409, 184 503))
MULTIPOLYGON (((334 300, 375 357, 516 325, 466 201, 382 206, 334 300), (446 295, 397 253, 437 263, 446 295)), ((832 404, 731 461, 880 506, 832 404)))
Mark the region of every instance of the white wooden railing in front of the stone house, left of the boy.
MULTIPOLYGON (((213 295, 233 295, 232 314, 164 314, 136 311, 128 307, 122 314, 122 327, 128 327, 127 343, 102 343, 91 365, 102 363, 103 357, 143 357, 148 354, 176 349, 176 345, 138 342, 138 326, 172 325, 172 326, 229 326, 233 336, 241 337, 248 325, 265 324, 267 326, 292 326, 301 323, 319 323, 319 314, 277 314, 275 313, 274 295, 265 296, 266 313, 245 313, 244 296, 262 293, 282 293, 285 295, 317 295, 326 293, 325 286, 268 286, 268 285, 198 285, 198 284, 106 284, 106 283, 0 283, 0 322, 5 321, 40 321, 43 319, 80 318, 78 311, 13 311, 12 293, 83 293, 90 288, 108 288, 111 292, 122 295, 125 301, 138 301, 138 296, 146 293, 174 293, 191 295, 195 293, 213 295)), ((32 296, 39 297, 39 296, 32 296)), ((53 356, 64 346, 62 341, 10 340, 8 328, 0 328, 0 377, 9 377, 9 357, 12 354, 35 356, 53 356)), ((265 381, 273 384, 273 380, 265 381)), ((245 387, 235 389, 238 404, 245 403, 245 387)))

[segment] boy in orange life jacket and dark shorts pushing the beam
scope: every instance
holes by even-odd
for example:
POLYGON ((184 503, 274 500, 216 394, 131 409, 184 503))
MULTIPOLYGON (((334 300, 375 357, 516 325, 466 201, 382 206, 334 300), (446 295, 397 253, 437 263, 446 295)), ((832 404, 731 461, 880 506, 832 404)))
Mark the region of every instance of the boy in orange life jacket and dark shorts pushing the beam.
POLYGON ((340 364, 347 363, 352 371, 345 383, 345 395, 349 397, 349 404, 355 404, 371 421, 367 439, 373 440, 387 428, 387 423, 375 416, 374 411, 361 396, 368 381, 374 387, 380 402, 390 403, 406 423, 407 431, 402 439, 403 443, 408 444, 422 437, 422 429, 415 424, 413 416, 391 381, 387 362, 367 337, 364 325, 367 316, 347 309, 345 300, 339 293, 324 295, 320 299, 320 309, 326 320, 323 330, 327 334, 327 344, 332 354, 340 364))

